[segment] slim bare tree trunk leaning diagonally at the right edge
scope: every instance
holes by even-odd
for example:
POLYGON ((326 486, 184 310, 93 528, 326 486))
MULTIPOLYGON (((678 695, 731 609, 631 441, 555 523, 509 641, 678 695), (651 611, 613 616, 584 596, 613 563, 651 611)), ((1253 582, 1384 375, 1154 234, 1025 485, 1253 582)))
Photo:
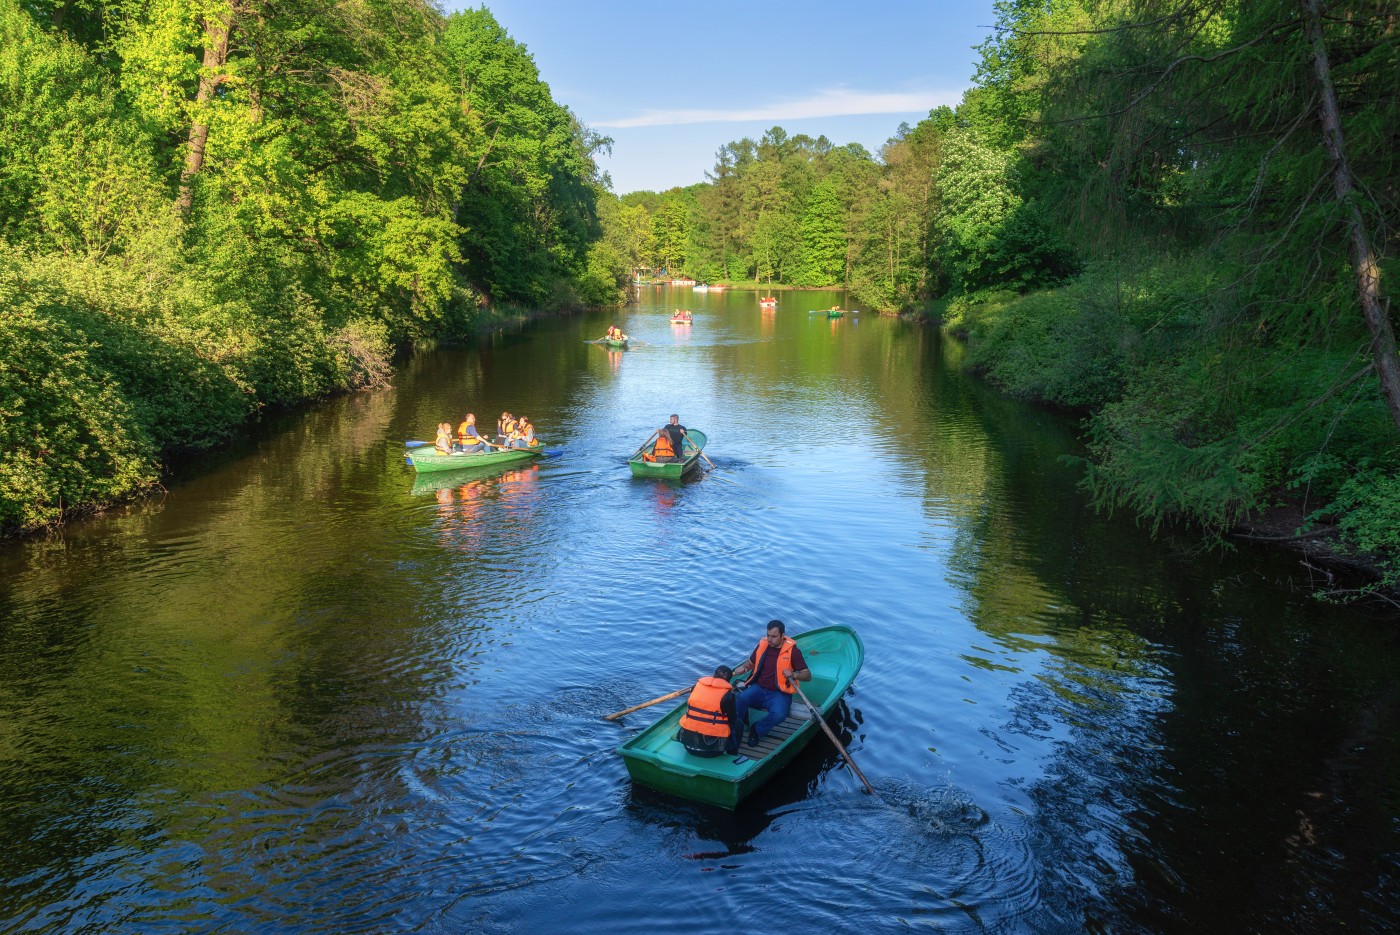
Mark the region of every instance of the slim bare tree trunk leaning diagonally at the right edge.
POLYGON ((1380 392, 1390 406, 1390 417, 1400 430, 1400 357, 1396 356, 1396 333, 1390 325, 1385 295, 1380 291, 1380 270, 1376 267, 1376 253, 1371 245, 1365 218, 1357 206, 1355 186, 1351 179, 1351 165, 1347 162, 1347 146, 1341 136, 1341 113, 1337 108, 1337 91, 1331 84, 1331 66, 1327 62, 1327 43, 1322 31, 1319 0, 1302 0, 1305 29, 1312 45, 1313 69, 1322 91, 1319 115, 1322 116, 1322 139, 1331 158, 1333 189, 1337 204, 1350 235, 1348 253, 1351 269, 1357 277, 1357 294, 1361 298, 1361 314, 1371 330, 1371 356, 1376 375, 1380 378, 1380 392))

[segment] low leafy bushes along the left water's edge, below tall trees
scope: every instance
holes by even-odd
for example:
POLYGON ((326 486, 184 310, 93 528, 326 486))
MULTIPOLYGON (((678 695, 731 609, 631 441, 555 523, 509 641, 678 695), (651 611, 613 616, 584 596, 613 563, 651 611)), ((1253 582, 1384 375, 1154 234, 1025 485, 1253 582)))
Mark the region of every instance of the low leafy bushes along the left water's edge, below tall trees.
MULTIPOLYGON (((189 280, 153 287, 112 265, 18 251, 0 252, 0 537, 150 495, 172 459, 266 416, 384 385, 396 353, 375 321, 329 329, 294 307, 220 322, 189 280)), ((434 333, 398 350, 545 315, 463 294, 434 333)))

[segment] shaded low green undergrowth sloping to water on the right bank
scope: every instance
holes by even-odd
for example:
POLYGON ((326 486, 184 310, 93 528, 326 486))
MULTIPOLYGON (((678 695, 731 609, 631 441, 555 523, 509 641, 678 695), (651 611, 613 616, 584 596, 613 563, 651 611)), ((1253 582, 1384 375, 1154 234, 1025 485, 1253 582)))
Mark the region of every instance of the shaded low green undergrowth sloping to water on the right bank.
POLYGON ((1366 336, 1340 322, 1336 340, 1301 340, 1260 326, 1257 302, 1212 256, 1155 258, 960 298, 944 328, 1005 392, 1082 414, 1100 508, 1154 528, 1186 519, 1217 540, 1295 515, 1268 537, 1329 537, 1393 588, 1400 445, 1366 379, 1366 336))

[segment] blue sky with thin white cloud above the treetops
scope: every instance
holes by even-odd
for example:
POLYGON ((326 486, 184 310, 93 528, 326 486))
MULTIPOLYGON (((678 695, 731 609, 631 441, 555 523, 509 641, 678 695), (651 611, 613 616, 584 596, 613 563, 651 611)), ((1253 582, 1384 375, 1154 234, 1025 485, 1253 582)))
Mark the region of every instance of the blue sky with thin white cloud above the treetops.
MULTIPOLYGON (((448 10, 480 6, 445 3, 448 10)), ((714 153, 771 126, 871 153, 956 105, 993 0, 494 0, 554 99, 613 139, 619 195, 704 181, 714 153)))

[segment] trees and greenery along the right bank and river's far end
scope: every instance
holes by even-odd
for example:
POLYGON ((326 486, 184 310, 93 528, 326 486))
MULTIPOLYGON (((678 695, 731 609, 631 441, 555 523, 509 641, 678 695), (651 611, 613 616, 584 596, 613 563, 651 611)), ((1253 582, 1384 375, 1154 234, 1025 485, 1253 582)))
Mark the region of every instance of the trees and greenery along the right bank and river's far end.
MULTIPOLYGON (((1085 414, 1106 508, 1224 536, 1288 507, 1400 574, 1400 11, 1001 0, 974 87, 871 154, 780 127, 605 213, 700 280, 931 309, 1085 414)), ((1344 596, 1345 586, 1333 589, 1344 596)))

